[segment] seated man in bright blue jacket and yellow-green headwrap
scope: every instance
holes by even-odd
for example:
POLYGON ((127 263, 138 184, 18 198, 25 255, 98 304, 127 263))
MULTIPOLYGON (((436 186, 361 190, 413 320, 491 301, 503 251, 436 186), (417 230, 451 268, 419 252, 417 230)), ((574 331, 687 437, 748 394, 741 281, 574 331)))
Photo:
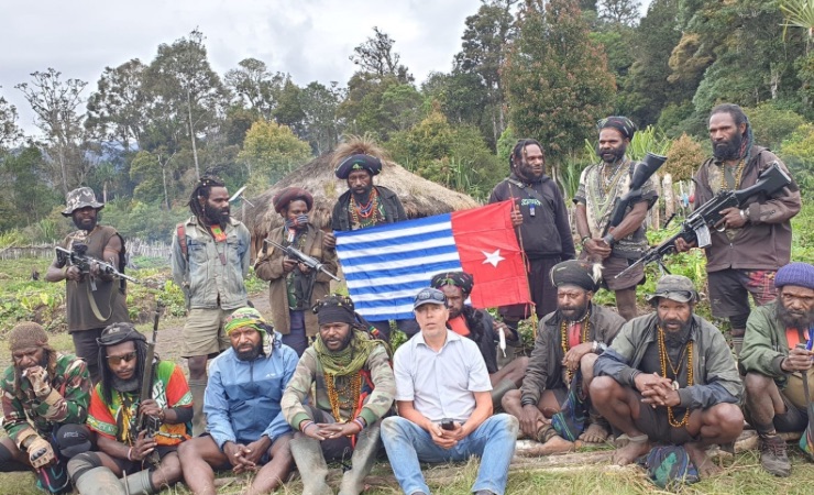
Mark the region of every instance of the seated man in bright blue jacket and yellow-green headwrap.
POLYGON ((294 464, 290 428, 279 400, 297 367, 297 353, 280 342, 279 333, 254 308, 235 310, 227 317, 224 330, 231 348, 209 366, 204 398, 209 436, 178 448, 184 481, 196 495, 212 495, 212 468, 232 468, 235 474, 257 471, 244 493, 268 493, 294 464))

